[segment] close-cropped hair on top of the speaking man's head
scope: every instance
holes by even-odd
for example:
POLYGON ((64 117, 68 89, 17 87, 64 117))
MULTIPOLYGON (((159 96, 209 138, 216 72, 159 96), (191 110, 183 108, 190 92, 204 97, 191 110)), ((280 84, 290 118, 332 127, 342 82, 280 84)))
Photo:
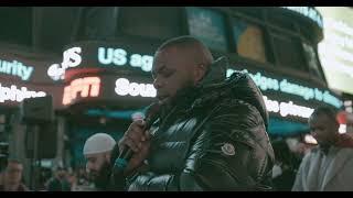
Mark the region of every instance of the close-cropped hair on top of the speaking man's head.
POLYGON ((189 35, 168 40, 158 47, 156 54, 172 47, 184 51, 196 64, 203 64, 207 67, 213 62, 210 50, 200 40, 189 35))

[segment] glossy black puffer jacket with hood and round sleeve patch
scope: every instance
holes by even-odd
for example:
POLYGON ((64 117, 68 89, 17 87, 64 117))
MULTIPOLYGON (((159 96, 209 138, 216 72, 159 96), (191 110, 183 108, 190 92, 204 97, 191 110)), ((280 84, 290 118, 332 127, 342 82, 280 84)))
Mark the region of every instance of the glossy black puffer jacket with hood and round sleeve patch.
POLYGON ((149 168, 129 179, 129 190, 271 189, 274 151, 261 94, 246 74, 224 80, 224 59, 211 68, 163 109, 149 168))

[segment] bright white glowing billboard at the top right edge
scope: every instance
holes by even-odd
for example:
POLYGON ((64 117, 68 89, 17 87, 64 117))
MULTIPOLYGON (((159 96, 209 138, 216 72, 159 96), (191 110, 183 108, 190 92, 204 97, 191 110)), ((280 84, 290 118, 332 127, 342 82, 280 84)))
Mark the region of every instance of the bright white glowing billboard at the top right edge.
POLYGON ((353 94, 353 9, 317 7, 324 38, 318 52, 330 88, 353 94))

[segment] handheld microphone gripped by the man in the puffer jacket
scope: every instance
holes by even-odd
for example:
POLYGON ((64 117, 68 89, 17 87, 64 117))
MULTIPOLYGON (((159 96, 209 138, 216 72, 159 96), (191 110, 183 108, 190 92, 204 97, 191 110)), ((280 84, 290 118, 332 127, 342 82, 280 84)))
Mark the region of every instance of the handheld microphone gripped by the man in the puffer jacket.
MULTIPOLYGON (((145 131, 149 130, 153 122, 158 119, 159 117, 159 111, 160 111, 160 103, 156 102, 150 105, 147 108, 146 111, 146 119, 145 119, 145 131)), ((118 158, 115 161, 114 164, 114 172, 124 172, 124 169, 127 167, 130 158, 132 157, 132 150, 128 146, 125 146, 121 153, 119 154, 118 158)))

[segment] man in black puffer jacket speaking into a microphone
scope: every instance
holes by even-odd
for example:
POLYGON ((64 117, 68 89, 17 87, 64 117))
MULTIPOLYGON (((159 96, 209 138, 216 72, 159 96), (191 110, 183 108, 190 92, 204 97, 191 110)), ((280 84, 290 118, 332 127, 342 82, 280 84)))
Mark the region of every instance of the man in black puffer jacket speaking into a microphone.
POLYGON ((152 76, 160 113, 150 130, 133 121, 119 141, 120 152, 133 152, 121 190, 271 189, 274 151, 263 96, 246 74, 226 79, 226 68, 225 58, 214 62, 192 36, 157 50, 152 76))

